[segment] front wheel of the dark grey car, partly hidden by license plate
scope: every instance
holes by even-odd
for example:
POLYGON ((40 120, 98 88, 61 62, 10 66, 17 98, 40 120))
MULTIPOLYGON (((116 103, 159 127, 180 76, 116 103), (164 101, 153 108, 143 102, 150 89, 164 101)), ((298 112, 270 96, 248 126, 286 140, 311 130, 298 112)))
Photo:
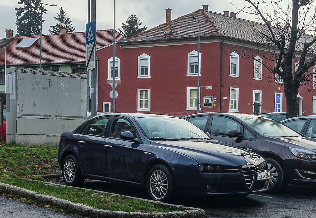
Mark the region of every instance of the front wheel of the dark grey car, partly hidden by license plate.
POLYGON ((276 159, 265 158, 268 169, 271 171, 271 179, 268 180, 269 189, 266 192, 276 193, 285 186, 285 171, 276 159))

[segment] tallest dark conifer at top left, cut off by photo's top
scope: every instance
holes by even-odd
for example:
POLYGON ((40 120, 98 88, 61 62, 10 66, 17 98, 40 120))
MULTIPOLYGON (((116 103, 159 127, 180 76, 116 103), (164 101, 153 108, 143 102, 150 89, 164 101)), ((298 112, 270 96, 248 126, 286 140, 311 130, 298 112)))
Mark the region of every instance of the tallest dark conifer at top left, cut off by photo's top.
MULTIPOLYGON (((41 0, 19 0, 18 4, 23 7, 16 8, 16 28, 19 35, 39 35, 40 34, 40 3, 41 0)), ((42 8, 43 14, 46 9, 42 8)), ((44 20, 42 20, 44 22, 44 20)))

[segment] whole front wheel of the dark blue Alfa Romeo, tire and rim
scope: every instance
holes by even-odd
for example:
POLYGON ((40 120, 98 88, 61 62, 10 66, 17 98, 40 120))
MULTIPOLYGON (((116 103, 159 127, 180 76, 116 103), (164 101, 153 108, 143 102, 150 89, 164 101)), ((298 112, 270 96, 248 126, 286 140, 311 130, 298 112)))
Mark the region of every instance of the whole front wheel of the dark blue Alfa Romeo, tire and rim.
POLYGON ((147 191, 151 200, 167 202, 174 192, 174 181, 164 165, 151 168, 147 178, 147 191))

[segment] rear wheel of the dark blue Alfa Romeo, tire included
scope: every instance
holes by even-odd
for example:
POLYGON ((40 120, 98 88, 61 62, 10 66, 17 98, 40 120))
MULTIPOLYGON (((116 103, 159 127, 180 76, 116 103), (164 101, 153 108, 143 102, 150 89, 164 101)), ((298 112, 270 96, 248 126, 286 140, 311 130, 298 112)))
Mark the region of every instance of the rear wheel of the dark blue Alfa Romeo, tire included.
POLYGON ((63 161, 62 175, 66 185, 79 186, 84 183, 78 162, 73 155, 67 155, 63 161))

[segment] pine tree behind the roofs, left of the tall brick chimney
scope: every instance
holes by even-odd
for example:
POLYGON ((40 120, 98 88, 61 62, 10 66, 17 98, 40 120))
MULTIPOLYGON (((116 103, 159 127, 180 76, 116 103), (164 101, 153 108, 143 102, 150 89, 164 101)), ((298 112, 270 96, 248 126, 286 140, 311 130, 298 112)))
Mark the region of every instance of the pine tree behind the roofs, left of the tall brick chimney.
POLYGON ((120 30, 119 28, 119 32, 123 34, 125 37, 141 33, 147 30, 146 25, 140 28, 142 24, 143 22, 141 22, 140 19, 138 20, 138 17, 131 13, 131 15, 128 16, 127 19, 125 19, 125 23, 122 23, 122 30, 120 30))

